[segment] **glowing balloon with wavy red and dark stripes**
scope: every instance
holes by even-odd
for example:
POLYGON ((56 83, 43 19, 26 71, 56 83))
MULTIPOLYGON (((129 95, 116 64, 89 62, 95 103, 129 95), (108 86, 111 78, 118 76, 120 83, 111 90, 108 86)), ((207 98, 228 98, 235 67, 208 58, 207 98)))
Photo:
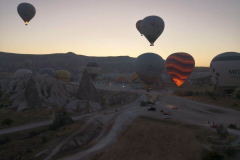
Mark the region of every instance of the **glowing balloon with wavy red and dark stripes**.
POLYGON ((168 56, 165 67, 173 81, 180 87, 189 77, 195 67, 195 61, 190 54, 173 53, 168 56))

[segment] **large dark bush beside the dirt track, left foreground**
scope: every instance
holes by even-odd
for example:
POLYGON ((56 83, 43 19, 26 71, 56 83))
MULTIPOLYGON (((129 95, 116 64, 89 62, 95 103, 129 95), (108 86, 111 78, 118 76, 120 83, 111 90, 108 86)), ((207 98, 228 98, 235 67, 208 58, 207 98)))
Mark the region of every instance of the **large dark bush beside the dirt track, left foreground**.
POLYGON ((56 113, 55 119, 52 125, 50 125, 50 130, 57 130, 58 128, 73 123, 72 117, 67 114, 66 111, 60 111, 56 113))

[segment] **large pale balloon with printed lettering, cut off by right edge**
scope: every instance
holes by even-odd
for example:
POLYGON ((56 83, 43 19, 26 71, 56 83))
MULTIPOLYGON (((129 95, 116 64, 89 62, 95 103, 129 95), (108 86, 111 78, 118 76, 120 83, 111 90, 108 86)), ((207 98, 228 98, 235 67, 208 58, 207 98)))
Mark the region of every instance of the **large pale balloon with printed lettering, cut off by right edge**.
POLYGON ((210 64, 212 82, 231 94, 240 86, 240 53, 225 52, 214 57, 210 64))

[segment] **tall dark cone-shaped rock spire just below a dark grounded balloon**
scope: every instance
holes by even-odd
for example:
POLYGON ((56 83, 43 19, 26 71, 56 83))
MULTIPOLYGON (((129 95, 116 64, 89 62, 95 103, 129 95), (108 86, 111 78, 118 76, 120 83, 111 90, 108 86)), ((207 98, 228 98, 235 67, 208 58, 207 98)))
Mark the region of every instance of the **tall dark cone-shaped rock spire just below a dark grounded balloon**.
POLYGON ((98 92, 93 85, 91 77, 86 69, 83 71, 82 79, 76 96, 81 100, 99 102, 98 92))

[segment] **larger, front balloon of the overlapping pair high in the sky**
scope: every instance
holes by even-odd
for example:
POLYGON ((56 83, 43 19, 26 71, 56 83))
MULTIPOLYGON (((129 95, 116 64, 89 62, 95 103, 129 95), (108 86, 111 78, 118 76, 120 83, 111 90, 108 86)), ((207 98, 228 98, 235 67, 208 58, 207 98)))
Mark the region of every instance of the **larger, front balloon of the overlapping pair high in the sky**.
POLYGON ((154 42, 162 34, 164 26, 163 19, 158 16, 148 16, 142 20, 140 27, 141 33, 151 43, 150 46, 153 46, 154 42))

